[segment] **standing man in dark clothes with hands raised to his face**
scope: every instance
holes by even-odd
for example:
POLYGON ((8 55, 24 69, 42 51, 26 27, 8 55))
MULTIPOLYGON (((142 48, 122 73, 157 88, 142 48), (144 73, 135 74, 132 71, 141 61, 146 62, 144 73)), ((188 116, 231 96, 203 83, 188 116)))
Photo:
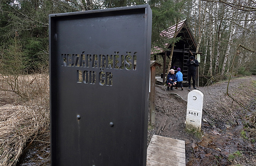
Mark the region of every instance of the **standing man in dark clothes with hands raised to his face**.
POLYGON ((193 56, 191 56, 189 58, 189 60, 187 61, 189 89, 191 89, 191 77, 193 80, 193 88, 196 89, 196 87, 195 87, 195 72, 196 72, 197 66, 199 66, 198 61, 193 56))

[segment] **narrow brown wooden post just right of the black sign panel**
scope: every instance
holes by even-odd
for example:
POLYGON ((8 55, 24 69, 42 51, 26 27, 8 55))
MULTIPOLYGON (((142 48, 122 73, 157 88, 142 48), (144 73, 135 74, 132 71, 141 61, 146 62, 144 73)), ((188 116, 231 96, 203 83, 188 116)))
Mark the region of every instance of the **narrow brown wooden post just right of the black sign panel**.
POLYGON ((155 93, 156 93, 156 67, 150 67, 150 125, 155 125, 155 93))

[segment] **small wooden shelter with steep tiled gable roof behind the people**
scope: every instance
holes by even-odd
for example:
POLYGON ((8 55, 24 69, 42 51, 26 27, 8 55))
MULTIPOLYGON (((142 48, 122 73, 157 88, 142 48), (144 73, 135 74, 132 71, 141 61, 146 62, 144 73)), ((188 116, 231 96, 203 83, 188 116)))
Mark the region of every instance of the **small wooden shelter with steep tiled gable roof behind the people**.
MULTIPOLYGON (((176 29, 176 24, 163 30, 161 32, 161 36, 173 38, 176 29)), ((195 38, 189 29, 188 23, 185 20, 178 23, 177 29, 177 37, 180 37, 180 41, 175 43, 174 52, 171 60, 171 68, 175 66, 175 70, 180 67, 181 72, 183 73, 183 82, 186 83, 188 67, 186 66, 187 60, 190 56, 194 56, 198 62, 200 63, 200 52, 196 52, 197 43, 195 42, 195 38)), ((165 49, 155 48, 154 52, 154 60, 156 60, 157 55, 161 55, 163 57, 163 84, 165 83, 165 75, 169 69, 167 69, 166 58, 170 58, 171 54, 171 43, 166 43, 165 49)), ((196 85, 198 86, 198 67, 196 72, 196 85)))

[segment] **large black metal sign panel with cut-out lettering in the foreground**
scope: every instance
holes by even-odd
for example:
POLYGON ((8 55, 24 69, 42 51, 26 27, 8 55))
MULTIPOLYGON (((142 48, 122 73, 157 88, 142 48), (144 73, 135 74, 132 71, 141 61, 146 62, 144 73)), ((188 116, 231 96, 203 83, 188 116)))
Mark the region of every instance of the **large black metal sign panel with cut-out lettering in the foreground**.
POLYGON ((52 166, 145 166, 150 7, 54 14, 49 23, 52 166))

